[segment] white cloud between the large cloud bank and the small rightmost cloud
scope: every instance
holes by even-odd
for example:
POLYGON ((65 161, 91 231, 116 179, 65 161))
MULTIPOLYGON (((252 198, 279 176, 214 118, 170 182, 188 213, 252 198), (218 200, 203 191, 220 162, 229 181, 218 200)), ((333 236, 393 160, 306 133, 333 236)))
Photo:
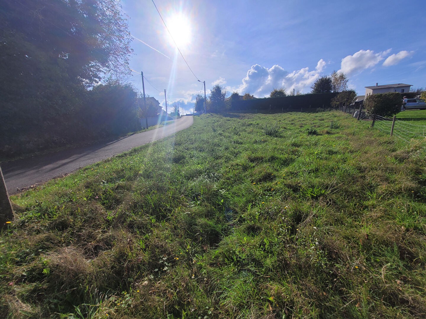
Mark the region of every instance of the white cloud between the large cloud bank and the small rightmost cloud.
POLYGON ((347 75, 351 75, 367 68, 374 67, 377 63, 384 59, 389 54, 391 49, 374 53, 372 50, 360 50, 354 55, 348 55, 342 59, 340 70, 347 75))

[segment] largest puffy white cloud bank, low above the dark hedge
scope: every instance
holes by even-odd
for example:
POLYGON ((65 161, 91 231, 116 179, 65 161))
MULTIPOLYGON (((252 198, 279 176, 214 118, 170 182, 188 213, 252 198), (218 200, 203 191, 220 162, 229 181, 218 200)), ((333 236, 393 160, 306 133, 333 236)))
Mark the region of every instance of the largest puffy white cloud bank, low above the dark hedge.
POLYGON ((320 76, 326 64, 321 59, 313 71, 309 71, 309 68, 306 67, 293 72, 285 71, 279 65, 266 68, 255 64, 247 71, 246 77, 242 79, 242 84, 236 88, 229 88, 229 91, 238 91, 239 94, 250 92, 256 97, 268 96, 273 88, 281 87, 287 91, 293 89, 310 91, 310 86, 320 76))

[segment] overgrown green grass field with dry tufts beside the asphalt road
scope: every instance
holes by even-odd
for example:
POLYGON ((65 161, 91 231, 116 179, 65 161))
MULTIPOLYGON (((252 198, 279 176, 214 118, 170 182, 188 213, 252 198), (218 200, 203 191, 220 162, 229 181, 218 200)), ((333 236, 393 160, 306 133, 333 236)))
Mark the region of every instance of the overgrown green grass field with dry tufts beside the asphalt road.
POLYGON ((425 143, 369 125, 205 115, 12 197, 0 317, 425 318, 425 143))

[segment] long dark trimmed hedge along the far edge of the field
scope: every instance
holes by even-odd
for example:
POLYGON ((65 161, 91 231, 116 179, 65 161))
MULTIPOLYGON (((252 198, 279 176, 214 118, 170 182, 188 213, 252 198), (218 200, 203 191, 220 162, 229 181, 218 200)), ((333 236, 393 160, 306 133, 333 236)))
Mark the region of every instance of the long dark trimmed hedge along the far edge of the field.
POLYGON ((328 108, 337 93, 305 94, 288 97, 263 98, 232 101, 230 111, 308 111, 309 109, 328 108))

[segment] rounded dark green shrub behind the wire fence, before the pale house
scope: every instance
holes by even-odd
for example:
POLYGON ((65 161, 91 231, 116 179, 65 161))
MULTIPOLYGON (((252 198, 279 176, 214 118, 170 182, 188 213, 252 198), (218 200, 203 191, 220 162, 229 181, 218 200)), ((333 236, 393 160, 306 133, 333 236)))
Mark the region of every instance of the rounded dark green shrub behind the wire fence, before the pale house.
POLYGON ((370 95, 364 101, 368 114, 378 114, 384 117, 394 116, 401 111, 401 95, 397 92, 370 95))

